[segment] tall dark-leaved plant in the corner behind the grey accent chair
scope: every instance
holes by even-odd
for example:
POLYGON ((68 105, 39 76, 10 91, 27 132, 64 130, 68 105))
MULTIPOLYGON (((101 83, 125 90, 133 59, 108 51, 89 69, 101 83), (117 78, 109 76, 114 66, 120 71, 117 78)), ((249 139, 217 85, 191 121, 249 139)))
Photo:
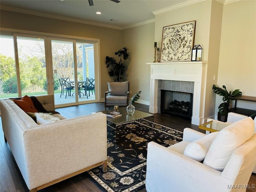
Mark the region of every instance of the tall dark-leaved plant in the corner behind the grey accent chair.
POLYGON ((129 56, 127 53, 127 48, 123 47, 122 49, 115 52, 118 57, 120 57, 119 62, 117 63, 113 57, 106 56, 106 67, 108 68, 108 74, 112 77, 114 76, 116 82, 122 80, 122 74, 124 72, 124 65, 122 64, 122 58, 126 60, 129 56))

